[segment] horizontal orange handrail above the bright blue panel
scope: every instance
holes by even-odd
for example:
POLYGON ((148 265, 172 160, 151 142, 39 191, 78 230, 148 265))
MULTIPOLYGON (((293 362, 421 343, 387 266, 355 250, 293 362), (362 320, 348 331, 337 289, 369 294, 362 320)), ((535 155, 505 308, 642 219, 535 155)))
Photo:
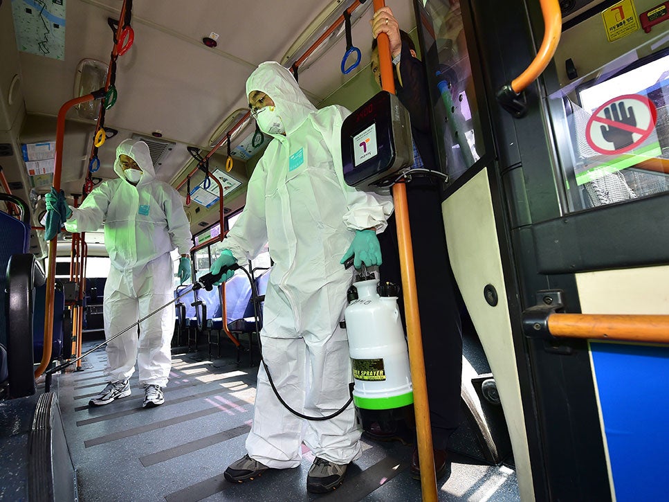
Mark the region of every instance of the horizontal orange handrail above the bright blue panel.
POLYGON ((669 315, 551 314, 553 337, 669 343, 669 315))

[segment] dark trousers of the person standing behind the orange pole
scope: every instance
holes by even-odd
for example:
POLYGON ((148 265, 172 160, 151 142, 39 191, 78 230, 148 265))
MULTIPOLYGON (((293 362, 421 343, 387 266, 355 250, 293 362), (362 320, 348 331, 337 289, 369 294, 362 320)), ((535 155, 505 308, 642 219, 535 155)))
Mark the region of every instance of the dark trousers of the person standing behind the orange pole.
MULTIPOLYGON (((435 448, 446 449, 448 437, 460 421, 462 330, 457 286, 448 261, 443 230, 441 197, 434 181, 414 178, 407 183, 407 206, 421 316, 432 442, 435 448)), ((378 239, 383 257, 381 280, 401 285, 394 215, 378 239)), ((402 321, 406 325, 401 294, 398 303, 402 321)))

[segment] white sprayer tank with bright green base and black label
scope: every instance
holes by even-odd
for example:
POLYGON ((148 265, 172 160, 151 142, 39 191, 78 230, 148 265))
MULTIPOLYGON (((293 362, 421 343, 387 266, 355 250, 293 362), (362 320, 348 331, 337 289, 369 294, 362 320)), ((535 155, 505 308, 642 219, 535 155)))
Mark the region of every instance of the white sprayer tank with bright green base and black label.
POLYGON ((358 299, 344 312, 358 408, 385 410, 414 402, 409 354, 396 296, 379 296, 378 279, 354 283, 358 299))

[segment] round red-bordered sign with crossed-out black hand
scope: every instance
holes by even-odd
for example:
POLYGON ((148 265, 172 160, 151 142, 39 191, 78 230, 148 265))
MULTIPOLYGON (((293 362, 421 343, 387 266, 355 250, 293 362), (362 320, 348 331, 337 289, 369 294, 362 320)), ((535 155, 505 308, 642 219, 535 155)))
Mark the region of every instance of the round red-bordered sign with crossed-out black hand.
POLYGON ((595 152, 614 155, 629 152, 655 129, 657 111, 639 94, 608 100, 594 111, 585 128, 585 138, 595 152))

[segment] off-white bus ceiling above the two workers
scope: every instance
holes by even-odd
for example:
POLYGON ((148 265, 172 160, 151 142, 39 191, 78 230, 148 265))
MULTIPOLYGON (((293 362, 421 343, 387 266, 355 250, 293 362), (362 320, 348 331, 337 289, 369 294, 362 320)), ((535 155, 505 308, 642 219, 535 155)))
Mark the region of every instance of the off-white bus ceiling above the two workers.
MULTIPOLYGON (((341 11, 347 1, 336 4, 341 11)), ((411 0, 389 4, 401 26, 409 30, 415 25, 411 0)), ((134 46, 118 59, 118 101, 106 117, 106 125, 121 134, 100 149, 101 173, 111 175, 113 147, 131 132, 149 135, 160 130, 177 143, 207 147, 223 120, 247 106, 244 84, 257 64, 281 60, 329 5, 313 0, 134 1, 134 46), (220 35, 213 49, 201 42, 212 32, 220 35)), ((74 96, 77 64, 84 58, 109 62, 107 17, 118 19, 121 6, 121 0, 66 0, 64 61, 19 53, 28 112, 55 116, 74 96)), ((356 71, 340 72, 343 36, 318 62, 300 71, 300 86, 316 104, 358 71, 368 71, 371 18, 368 8, 353 28, 354 45, 363 53, 356 71)), ((79 155, 76 161, 81 164, 79 155)), ((185 148, 175 148, 161 178, 174 179, 189 160, 185 148)), ((83 169, 77 167, 77 172, 83 169)))

